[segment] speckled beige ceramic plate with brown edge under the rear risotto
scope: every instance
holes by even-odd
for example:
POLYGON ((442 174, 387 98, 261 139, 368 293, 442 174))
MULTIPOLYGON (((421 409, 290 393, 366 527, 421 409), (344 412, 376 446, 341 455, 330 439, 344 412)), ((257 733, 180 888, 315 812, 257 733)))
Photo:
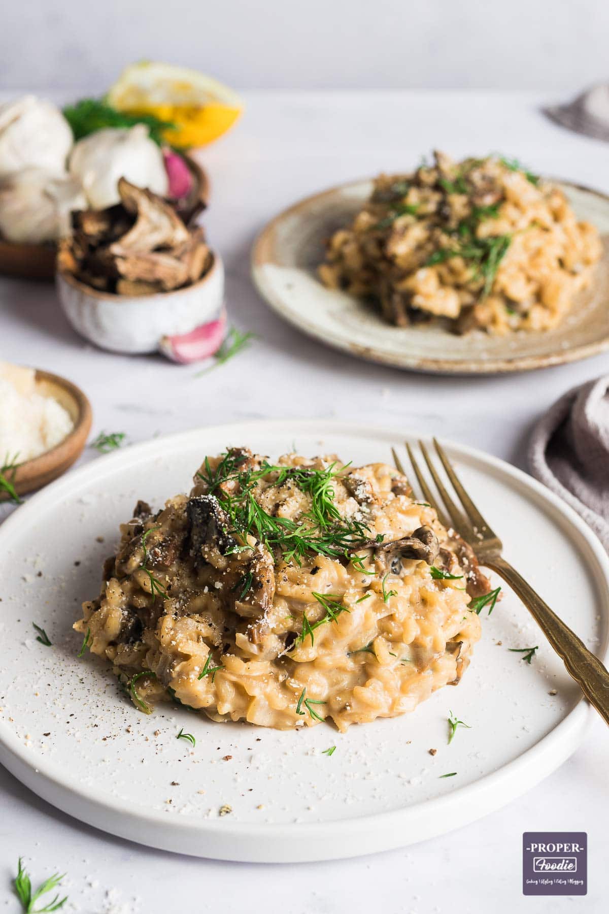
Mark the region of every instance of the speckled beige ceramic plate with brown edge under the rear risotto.
POLYGON ((347 225, 370 196, 372 181, 332 187, 272 219, 252 251, 257 290, 281 317, 321 342, 354 356, 437 374, 498 374, 562 365, 609 348, 609 197, 561 186, 579 218, 604 235, 596 280, 562 325, 543 333, 464 336, 438 326, 394 327, 361 299, 326 289, 316 275, 324 241, 347 225))

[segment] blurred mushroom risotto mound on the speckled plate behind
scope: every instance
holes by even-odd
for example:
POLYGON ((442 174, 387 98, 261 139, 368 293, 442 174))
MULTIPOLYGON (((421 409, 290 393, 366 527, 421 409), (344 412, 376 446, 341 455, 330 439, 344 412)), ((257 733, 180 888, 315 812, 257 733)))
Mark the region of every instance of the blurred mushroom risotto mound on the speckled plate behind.
POLYGON ((375 180, 319 273, 398 326, 444 318, 458 333, 506 334, 559 324, 601 252, 559 187, 507 159, 436 152, 434 165, 375 180))

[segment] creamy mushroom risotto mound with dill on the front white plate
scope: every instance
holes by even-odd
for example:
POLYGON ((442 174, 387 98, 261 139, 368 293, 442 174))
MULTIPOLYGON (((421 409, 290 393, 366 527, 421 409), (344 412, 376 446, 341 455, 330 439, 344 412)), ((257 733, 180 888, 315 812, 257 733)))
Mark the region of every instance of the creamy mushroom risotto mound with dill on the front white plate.
POLYGON ((488 579, 384 463, 231 449, 121 534, 74 627, 146 713, 346 730, 456 685, 480 637, 488 579))

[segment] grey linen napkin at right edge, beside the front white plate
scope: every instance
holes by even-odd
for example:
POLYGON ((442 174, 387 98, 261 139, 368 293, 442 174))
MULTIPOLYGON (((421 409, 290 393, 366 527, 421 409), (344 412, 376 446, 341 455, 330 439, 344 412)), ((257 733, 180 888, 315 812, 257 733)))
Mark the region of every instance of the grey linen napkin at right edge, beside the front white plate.
POLYGON ((531 473, 577 511, 609 552, 609 375, 573 388, 533 430, 531 473))

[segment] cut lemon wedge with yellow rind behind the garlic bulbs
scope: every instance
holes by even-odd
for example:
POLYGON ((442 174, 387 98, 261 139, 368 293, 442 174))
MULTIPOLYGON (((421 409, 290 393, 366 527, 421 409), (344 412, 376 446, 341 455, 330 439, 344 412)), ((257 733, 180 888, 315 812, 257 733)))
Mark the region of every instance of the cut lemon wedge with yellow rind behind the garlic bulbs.
POLYGON ((236 92, 211 76, 148 60, 122 71, 108 92, 108 101, 118 111, 153 114, 173 123, 163 137, 183 149, 213 143, 243 111, 236 92))

